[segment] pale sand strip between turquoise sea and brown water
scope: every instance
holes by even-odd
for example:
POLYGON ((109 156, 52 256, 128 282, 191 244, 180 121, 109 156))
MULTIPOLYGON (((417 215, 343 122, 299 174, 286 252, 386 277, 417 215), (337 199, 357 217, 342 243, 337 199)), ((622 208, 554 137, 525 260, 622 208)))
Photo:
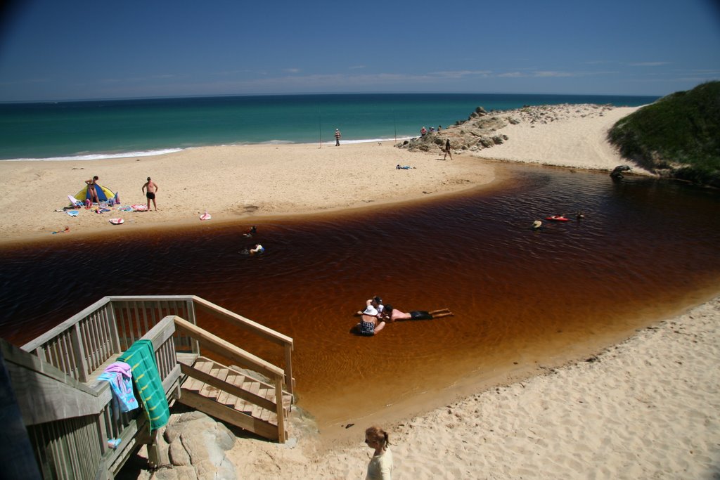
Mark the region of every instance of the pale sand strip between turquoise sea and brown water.
MULTIPOLYGON (((89 235, 122 235, 128 230, 199 225, 204 212, 211 222, 252 222, 255 217, 297 215, 353 209, 393 201, 428 198, 491 184, 495 166, 482 158, 611 170, 624 161, 605 141, 608 128, 634 107, 596 109, 545 107, 552 122, 513 113, 520 124, 503 128, 509 140, 479 153, 456 152, 442 160, 439 151, 410 153, 393 142, 340 147, 307 145, 238 145, 191 148, 154 157, 112 160, 0 161, 0 208, 4 212, 1 244, 60 242, 89 235), (396 170, 395 166, 411 166, 396 170), (78 217, 62 211, 68 195, 84 181, 118 192, 121 204, 145 204, 146 178, 156 181, 158 212, 96 214, 80 209, 78 217), (60 210, 60 211, 58 211, 60 210), (124 225, 109 219, 122 217, 124 225), (61 235, 53 235, 69 227, 61 235)), ((514 112, 514 111, 513 111, 514 112)))

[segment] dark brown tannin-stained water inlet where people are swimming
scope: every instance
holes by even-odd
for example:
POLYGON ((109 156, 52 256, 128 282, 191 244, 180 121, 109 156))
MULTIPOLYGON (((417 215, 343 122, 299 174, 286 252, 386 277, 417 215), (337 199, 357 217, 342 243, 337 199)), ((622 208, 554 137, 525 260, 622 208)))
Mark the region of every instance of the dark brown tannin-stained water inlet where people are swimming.
MULTIPOLYGON (((513 182, 499 192, 253 219, 259 256, 241 253, 246 224, 2 252, 0 329, 21 343, 103 295, 197 294, 294 338, 299 405, 328 431, 387 405, 412 408, 467 376, 552 365, 716 293, 716 192, 508 168, 513 182), (562 213, 572 221, 532 228, 562 213), (375 294, 455 315, 353 335, 353 313, 375 294)), ((242 332, 220 334, 273 360, 242 332)))

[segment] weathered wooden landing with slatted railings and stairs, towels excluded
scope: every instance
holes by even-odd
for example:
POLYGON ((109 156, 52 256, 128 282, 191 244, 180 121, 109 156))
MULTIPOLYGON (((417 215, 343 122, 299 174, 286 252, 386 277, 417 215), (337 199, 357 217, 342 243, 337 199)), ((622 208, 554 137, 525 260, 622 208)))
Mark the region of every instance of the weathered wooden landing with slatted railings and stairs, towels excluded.
MULTIPOLYGON (((26 427, 22 443, 31 445, 42 478, 112 479, 143 444, 150 461, 157 460, 161 430, 150 430, 143 409, 115 412, 109 384, 97 381, 138 340, 153 343, 168 403, 178 401, 265 438, 287 440, 292 338, 197 296, 108 296, 22 349, 0 341, 0 373, 9 376, 26 427), (284 366, 198 327, 197 312, 276 343, 284 350, 284 366), (201 348, 238 367, 201 356, 201 348), (120 447, 111 448, 111 439, 120 439, 120 447)), ((13 458, 8 467, 24 461, 13 458)))

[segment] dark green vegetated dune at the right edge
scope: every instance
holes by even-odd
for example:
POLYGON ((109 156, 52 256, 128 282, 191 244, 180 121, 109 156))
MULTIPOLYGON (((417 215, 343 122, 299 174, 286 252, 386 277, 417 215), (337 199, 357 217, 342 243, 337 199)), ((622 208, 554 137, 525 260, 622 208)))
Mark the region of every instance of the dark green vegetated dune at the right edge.
POLYGON ((720 81, 637 110, 613 126, 608 140, 650 171, 720 187, 720 81))

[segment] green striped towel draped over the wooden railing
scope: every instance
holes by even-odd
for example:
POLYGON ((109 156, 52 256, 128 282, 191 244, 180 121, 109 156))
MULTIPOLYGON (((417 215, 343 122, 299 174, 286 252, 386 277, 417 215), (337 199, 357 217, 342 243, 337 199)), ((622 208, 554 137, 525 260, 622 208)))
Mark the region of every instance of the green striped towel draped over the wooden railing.
POLYGON ((117 360, 128 363, 132 368, 132 381, 150 420, 150 431, 166 425, 170 418, 170 407, 155 363, 153 343, 150 340, 138 340, 117 360))

